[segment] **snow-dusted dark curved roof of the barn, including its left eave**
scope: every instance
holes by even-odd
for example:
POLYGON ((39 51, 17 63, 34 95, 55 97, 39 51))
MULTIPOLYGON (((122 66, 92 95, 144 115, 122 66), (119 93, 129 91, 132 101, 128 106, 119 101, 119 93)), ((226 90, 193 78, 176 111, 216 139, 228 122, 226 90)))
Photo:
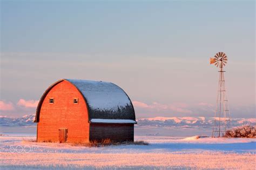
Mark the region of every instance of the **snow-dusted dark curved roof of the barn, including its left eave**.
POLYGON ((77 79, 59 80, 45 91, 38 104, 36 122, 39 122, 44 96, 61 81, 69 81, 82 94, 91 123, 136 123, 132 102, 119 86, 110 82, 77 79))

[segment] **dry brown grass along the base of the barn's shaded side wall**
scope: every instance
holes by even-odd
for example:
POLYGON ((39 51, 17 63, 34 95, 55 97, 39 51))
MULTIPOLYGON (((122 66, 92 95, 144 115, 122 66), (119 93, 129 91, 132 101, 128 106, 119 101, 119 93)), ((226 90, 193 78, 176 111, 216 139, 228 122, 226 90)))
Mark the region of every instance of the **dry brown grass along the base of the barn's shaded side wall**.
POLYGON ((110 139, 102 139, 102 140, 92 140, 90 142, 75 142, 70 144, 72 146, 87 146, 87 147, 102 147, 102 146, 117 146, 117 145, 149 145, 148 142, 143 140, 139 141, 124 141, 124 142, 116 142, 111 141, 110 139))

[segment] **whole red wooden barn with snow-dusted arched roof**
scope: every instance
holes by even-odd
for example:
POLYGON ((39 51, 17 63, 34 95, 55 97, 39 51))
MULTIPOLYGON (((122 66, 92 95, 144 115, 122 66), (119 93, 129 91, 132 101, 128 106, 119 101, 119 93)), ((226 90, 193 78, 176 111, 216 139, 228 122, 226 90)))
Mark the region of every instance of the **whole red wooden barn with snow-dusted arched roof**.
POLYGON ((119 86, 61 79, 43 94, 36 111, 37 141, 133 141, 134 108, 119 86))

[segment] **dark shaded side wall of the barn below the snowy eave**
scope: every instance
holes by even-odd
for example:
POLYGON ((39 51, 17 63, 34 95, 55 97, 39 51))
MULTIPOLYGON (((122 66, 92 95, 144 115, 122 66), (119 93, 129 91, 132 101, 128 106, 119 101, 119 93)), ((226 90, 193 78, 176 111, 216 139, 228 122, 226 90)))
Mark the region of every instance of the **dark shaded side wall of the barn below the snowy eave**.
POLYGON ((133 141, 133 124, 90 124, 90 141, 111 139, 133 141))

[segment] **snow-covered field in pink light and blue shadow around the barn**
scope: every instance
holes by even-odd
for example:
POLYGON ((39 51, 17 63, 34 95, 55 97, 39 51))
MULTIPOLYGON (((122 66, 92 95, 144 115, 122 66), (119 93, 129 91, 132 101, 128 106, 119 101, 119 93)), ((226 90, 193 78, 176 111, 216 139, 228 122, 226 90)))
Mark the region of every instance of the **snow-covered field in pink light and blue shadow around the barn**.
POLYGON ((35 134, 0 137, 0 169, 254 169, 256 139, 136 135, 150 145, 106 147, 36 143, 35 134))

